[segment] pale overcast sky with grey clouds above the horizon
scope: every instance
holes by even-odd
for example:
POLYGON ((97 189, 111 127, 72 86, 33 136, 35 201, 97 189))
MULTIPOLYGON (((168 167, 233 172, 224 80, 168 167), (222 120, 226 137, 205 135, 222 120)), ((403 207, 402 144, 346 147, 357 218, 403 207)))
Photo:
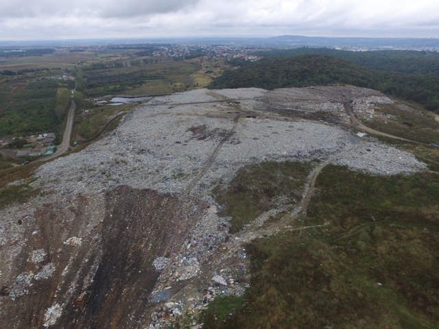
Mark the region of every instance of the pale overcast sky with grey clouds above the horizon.
POLYGON ((0 40, 283 34, 439 38, 439 1, 0 0, 0 40))

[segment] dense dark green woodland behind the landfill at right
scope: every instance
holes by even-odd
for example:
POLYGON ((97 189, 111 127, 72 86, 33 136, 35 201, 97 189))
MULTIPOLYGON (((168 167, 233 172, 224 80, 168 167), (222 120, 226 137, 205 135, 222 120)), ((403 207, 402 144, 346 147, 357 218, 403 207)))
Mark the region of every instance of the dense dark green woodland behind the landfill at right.
MULTIPOLYGON (((384 67, 381 71, 372 70, 350 60, 319 54, 269 56, 257 62, 235 61, 233 65, 239 68, 224 71, 211 82, 209 88, 259 87, 271 90, 351 84, 415 101, 427 110, 439 112, 439 75, 433 73, 385 71, 384 67)), ((434 67, 431 66, 431 72, 434 72, 434 67)), ((418 69, 419 72, 426 70, 427 66, 418 69)), ((403 71, 402 68, 400 71, 403 71)))

